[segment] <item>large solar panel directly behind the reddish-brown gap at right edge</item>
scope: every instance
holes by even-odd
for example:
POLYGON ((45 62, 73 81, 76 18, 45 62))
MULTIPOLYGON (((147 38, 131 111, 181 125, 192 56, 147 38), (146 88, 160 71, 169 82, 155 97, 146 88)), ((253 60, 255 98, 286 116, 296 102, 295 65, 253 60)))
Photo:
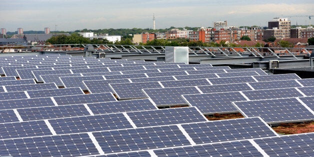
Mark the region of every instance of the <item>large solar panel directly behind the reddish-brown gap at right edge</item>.
POLYGON ((245 117, 260 116, 268 124, 311 121, 314 119, 303 104, 295 98, 233 102, 245 117))

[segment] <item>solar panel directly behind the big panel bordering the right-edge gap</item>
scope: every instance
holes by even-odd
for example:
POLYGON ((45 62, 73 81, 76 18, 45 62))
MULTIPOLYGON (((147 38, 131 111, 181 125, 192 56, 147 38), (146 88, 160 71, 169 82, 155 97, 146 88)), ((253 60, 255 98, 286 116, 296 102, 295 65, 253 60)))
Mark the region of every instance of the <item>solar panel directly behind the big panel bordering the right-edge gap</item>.
POLYGON ((303 96, 295 88, 262 89, 242 92, 250 100, 303 96))

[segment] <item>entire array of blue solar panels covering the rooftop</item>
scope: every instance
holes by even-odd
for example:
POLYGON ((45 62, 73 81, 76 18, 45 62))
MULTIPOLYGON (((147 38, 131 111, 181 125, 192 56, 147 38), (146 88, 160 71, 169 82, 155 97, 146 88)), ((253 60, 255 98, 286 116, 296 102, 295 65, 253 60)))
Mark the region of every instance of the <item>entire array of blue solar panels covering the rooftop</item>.
POLYGON ((0 156, 314 155, 314 133, 269 126, 314 119, 312 78, 70 55, 0 62, 0 156))

